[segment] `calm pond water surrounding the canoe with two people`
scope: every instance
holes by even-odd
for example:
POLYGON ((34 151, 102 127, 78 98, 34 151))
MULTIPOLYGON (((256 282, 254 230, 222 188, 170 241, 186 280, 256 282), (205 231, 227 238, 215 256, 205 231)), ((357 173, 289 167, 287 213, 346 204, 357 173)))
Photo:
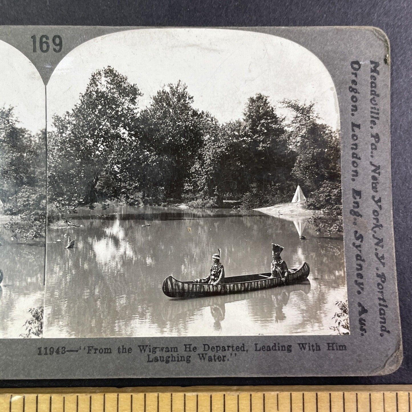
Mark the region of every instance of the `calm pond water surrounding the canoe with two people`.
POLYGON ((150 206, 73 216, 84 227, 48 231, 45 337, 331 334, 335 302, 346 300, 342 239, 303 221, 150 206), (206 276, 218 247, 226 276, 268 272, 272 242, 288 267, 309 263, 308 283, 190 300, 162 292, 170 274, 206 276))

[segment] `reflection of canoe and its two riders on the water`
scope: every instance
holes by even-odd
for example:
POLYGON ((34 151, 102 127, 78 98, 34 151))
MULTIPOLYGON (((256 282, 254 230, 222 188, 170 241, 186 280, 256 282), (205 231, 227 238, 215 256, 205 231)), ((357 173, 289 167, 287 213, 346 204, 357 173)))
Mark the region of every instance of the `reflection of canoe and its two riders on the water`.
MULTIPOLYGON (((201 309, 210 307, 211 314, 214 320, 213 328, 221 329, 221 322, 225 319, 226 308, 225 304, 239 302, 241 300, 259 300, 262 302, 261 307, 266 309, 264 302, 269 302, 274 311, 270 315, 267 313, 262 318, 267 318, 268 315, 274 321, 279 322, 285 319, 283 307, 288 303, 291 293, 303 292, 307 295, 310 292, 310 281, 295 283, 293 285, 282 286, 280 288, 256 290, 254 292, 238 293, 236 295, 222 295, 211 297, 199 297, 197 299, 170 299, 163 303, 162 316, 166 322, 176 322, 179 319, 189 319, 201 309)), ((265 311, 265 309, 263 309, 265 311)))

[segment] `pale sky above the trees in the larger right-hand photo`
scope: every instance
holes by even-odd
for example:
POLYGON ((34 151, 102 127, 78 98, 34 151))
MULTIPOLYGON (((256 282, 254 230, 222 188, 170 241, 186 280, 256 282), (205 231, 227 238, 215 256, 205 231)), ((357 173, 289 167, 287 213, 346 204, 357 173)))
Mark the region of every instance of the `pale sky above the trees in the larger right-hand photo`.
MULTIPOLYGON (((220 122, 240 119, 247 99, 262 93, 277 107, 283 99, 313 102, 326 124, 339 127, 335 87, 314 54, 281 37, 205 28, 129 30, 81 44, 47 84, 48 121, 71 110, 91 73, 106 66, 138 86, 140 108, 164 85, 181 80, 194 106, 220 122)), ((288 117, 285 109, 278 112, 288 117)))

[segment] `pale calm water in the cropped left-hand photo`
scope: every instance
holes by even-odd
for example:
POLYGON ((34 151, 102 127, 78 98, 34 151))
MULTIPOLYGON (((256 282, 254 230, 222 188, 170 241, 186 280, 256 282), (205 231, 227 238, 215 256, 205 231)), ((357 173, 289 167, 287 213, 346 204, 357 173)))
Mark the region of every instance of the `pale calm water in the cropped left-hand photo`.
POLYGON ((0 338, 17 338, 26 333, 23 324, 31 319, 30 308, 44 302, 44 243, 11 241, 0 230, 0 338))

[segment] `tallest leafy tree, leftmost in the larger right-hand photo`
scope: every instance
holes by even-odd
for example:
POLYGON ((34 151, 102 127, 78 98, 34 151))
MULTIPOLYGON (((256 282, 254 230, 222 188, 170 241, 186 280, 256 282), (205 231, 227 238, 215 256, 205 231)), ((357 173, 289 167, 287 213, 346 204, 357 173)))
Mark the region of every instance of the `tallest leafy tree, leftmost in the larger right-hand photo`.
POLYGON ((140 96, 135 84, 108 66, 91 75, 73 110, 54 116, 48 162, 50 199, 56 206, 98 201, 99 181, 116 180, 124 157, 113 154, 119 142, 136 138, 140 96))

